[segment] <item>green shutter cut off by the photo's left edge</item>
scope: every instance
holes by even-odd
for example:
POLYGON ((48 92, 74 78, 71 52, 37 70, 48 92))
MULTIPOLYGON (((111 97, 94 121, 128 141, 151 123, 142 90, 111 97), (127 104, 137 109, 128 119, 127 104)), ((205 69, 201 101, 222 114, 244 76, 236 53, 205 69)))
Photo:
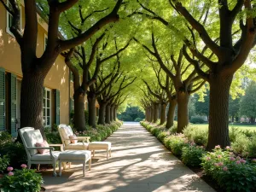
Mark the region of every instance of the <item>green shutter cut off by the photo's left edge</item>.
POLYGON ((5 126, 5 70, 0 67, 0 131, 5 131, 5 126))

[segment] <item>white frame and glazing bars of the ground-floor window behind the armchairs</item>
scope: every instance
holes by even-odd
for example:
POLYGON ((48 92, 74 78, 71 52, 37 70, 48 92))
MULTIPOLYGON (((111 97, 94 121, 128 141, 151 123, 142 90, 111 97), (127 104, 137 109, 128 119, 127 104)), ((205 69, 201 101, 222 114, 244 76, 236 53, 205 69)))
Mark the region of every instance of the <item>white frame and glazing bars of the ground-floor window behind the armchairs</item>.
POLYGON ((44 98, 43 98, 43 119, 44 119, 44 127, 50 127, 51 126, 51 122, 52 122, 52 90, 50 90, 49 88, 44 88, 44 98), (49 107, 47 107, 47 91, 49 91, 49 107), (45 103, 45 107, 44 107, 44 102, 45 103), (49 114, 47 113, 47 109, 49 108, 49 114), (47 120, 47 117, 49 117, 49 122, 47 120))

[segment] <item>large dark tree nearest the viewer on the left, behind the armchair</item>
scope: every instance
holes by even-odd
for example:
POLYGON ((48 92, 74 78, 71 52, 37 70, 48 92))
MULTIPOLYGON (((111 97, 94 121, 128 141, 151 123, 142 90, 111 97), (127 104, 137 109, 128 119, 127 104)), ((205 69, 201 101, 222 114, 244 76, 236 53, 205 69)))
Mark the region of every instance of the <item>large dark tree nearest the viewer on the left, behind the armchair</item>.
POLYGON ((83 44, 91 38, 103 26, 119 20, 118 11, 123 3, 122 0, 116 2, 112 10, 96 20, 95 24, 78 36, 69 39, 59 38, 59 19, 62 13, 73 9, 79 0, 48 0, 47 6, 49 14, 48 22, 48 44, 44 54, 37 56, 38 49, 38 5, 36 0, 24 0, 25 5, 25 28, 20 29, 20 1, 9 0, 9 7, 3 0, 0 0, 4 8, 13 16, 10 32, 13 33, 17 43, 20 45, 22 83, 20 96, 20 127, 32 126, 43 132, 43 90, 44 79, 53 66, 58 55, 62 51, 72 49, 83 44))

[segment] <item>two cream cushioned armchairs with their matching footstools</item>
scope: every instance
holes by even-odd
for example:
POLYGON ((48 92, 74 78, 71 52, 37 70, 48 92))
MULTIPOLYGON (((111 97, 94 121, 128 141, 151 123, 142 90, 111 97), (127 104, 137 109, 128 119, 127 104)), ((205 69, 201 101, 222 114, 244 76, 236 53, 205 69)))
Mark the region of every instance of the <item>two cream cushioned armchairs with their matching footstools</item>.
MULTIPOLYGON (((58 126, 61 136, 61 144, 45 143, 44 138, 39 130, 32 127, 24 127, 19 130, 21 140, 26 149, 27 166, 31 168, 32 164, 51 164, 53 166, 53 175, 56 176, 55 166, 59 161, 59 176, 61 176, 62 163, 71 162, 83 164, 83 175, 85 175, 85 166, 89 162, 91 166, 91 151, 93 157, 96 150, 106 150, 111 157, 110 142, 92 142, 90 137, 76 137, 69 125, 61 124, 58 126), (80 141, 80 142, 79 142, 80 141), (60 147, 61 151, 55 151, 53 147, 60 147)), ((64 164, 64 169, 66 164, 64 164)))

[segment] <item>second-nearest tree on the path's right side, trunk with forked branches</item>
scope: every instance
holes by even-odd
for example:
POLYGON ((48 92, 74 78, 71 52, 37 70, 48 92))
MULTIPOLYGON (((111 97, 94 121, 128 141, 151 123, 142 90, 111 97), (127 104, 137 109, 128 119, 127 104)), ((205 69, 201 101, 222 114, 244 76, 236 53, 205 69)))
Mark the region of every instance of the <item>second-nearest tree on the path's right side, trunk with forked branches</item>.
MULTIPOLYGON (((142 44, 136 38, 135 40, 138 44, 142 44)), ((161 69, 163 69, 168 77, 172 79, 177 97, 177 132, 182 132, 183 128, 189 125, 189 96, 197 90, 200 90, 205 84, 205 80, 201 80, 201 77, 197 75, 195 69, 192 70, 189 75, 186 74, 189 68, 193 67, 193 65, 188 63, 187 66, 184 66, 186 64, 184 64, 185 59, 183 58, 183 49, 180 49, 178 55, 171 54, 169 60, 160 55, 153 32, 151 35, 151 42, 153 50, 145 44, 142 44, 143 49, 147 50, 147 52, 156 59, 155 61, 154 59, 151 60, 158 63, 161 69), (165 63, 173 67, 168 67, 165 63)))

